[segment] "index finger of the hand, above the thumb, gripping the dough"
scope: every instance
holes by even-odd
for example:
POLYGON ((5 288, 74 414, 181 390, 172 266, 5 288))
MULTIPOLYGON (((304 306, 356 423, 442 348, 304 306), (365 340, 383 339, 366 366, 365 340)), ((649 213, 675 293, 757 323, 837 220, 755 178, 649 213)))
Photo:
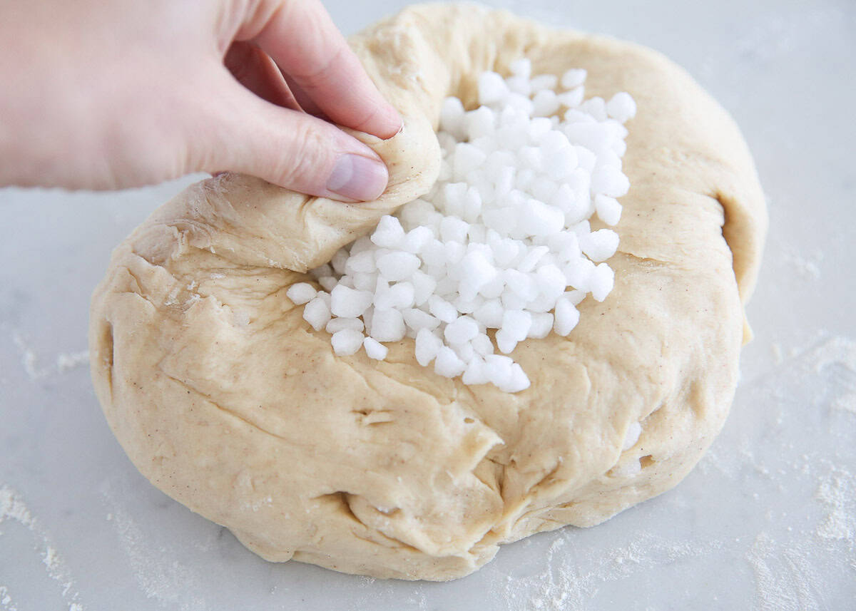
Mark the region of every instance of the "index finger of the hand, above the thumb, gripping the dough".
POLYGON ((333 122, 382 139, 401 128, 318 0, 284 0, 255 43, 333 122))

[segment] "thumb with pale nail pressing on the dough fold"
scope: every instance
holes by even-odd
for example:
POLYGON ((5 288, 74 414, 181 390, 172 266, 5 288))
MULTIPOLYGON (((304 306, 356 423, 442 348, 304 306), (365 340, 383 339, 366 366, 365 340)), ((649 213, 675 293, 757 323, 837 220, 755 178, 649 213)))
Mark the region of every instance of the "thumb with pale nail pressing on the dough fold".
POLYGON ((371 201, 383 193, 389 173, 371 148, 335 125, 270 104, 228 80, 209 98, 217 102, 209 124, 200 126, 204 133, 187 136, 196 169, 241 172, 347 202, 371 201))

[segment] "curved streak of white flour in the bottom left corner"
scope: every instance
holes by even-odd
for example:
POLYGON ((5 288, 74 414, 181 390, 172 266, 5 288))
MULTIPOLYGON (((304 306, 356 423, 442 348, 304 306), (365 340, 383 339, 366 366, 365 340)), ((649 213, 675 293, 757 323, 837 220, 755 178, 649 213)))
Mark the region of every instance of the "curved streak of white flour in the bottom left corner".
MULTIPOLYGON (((36 549, 39 549, 42 562, 45 564, 45 572, 62 588, 62 599, 68 603, 68 611, 83 611, 80 594, 74 589, 74 579, 62 557, 51 545, 51 537, 30 513, 21 495, 8 486, 0 484, 0 524, 7 519, 14 520, 33 534, 36 549)), ((0 590, 0 603, 4 605, 6 611, 15 611, 5 587, 0 590)))

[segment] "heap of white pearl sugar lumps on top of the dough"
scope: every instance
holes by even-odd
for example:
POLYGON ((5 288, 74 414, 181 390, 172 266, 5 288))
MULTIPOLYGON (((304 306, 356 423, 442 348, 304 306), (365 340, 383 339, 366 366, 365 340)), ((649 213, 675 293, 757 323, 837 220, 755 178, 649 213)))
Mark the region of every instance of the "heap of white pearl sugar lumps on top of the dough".
POLYGON ((635 114, 633 98, 585 100, 582 69, 560 79, 533 77, 526 58, 508 68, 506 79, 479 75, 479 108, 443 101, 437 183, 312 270, 330 294, 305 282, 288 289, 313 328, 336 336, 336 353, 363 346, 383 359, 381 341, 407 336, 419 364, 434 361, 439 375, 518 392, 526 373, 495 352, 551 329, 568 335, 586 294, 603 300, 613 288, 601 262, 618 236, 592 232, 588 219, 597 212, 612 227, 621 218, 622 123, 635 114))

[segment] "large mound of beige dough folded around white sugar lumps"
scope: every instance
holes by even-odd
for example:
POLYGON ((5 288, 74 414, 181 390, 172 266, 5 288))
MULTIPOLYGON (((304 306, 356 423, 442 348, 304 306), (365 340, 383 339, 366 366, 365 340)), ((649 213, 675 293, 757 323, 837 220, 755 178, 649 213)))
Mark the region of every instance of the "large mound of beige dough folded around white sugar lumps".
MULTIPOLYGON (((352 40, 406 128, 360 138, 390 187, 366 205, 241 175, 187 188, 122 242, 92 298, 92 377, 140 472, 270 561, 451 579, 501 543, 591 526, 678 483, 734 395, 766 217, 727 114, 663 56, 502 11, 419 5, 352 40), (567 338, 524 341, 519 394, 413 358, 333 355, 285 296, 435 181, 439 104, 520 56, 627 91, 615 289, 567 338), (633 447, 627 431, 641 424, 633 447)), ((701 500, 699 500, 701 501, 701 500)))

